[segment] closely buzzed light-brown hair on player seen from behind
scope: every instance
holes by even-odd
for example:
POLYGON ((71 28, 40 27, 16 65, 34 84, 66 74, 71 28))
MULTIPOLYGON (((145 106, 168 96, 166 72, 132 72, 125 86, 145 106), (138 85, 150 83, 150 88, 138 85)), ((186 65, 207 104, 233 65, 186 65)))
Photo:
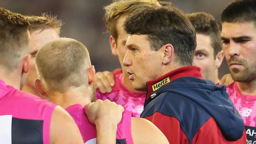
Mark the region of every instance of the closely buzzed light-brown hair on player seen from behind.
POLYGON ((85 70, 91 66, 91 61, 81 42, 59 38, 38 51, 35 66, 46 91, 65 92, 69 87, 85 84, 85 70))

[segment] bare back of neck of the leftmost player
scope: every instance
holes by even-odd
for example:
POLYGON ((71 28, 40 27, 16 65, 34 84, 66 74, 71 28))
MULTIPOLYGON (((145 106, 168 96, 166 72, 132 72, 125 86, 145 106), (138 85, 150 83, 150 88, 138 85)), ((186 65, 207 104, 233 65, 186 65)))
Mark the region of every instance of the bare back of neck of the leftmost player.
POLYGON ((6 85, 11 85, 15 89, 20 90, 21 75, 17 72, 8 73, 6 71, 0 70, 0 79, 2 79, 6 85))

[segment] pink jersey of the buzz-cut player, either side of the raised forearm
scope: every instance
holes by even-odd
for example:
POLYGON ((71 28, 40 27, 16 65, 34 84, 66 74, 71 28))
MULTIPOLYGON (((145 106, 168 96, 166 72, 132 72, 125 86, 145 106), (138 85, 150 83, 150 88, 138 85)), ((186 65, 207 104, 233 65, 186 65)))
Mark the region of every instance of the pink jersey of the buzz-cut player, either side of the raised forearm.
MULTIPOLYGON (((75 104, 65 109, 74 118, 85 144, 96 144, 96 127, 92 125, 86 114, 86 105, 75 104)), ((133 144, 131 134, 131 112, 125 111, 117 126, 117 144, 133 144)))

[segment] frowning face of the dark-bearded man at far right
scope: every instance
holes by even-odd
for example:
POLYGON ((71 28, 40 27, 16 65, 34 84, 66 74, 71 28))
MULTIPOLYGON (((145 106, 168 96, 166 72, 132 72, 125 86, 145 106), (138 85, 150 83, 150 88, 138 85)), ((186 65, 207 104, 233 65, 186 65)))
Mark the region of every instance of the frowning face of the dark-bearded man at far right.
POLYGON ((239 82, 256 79, 256 26, 254 22, 224 22, 221 40, 232 78, 239 82))

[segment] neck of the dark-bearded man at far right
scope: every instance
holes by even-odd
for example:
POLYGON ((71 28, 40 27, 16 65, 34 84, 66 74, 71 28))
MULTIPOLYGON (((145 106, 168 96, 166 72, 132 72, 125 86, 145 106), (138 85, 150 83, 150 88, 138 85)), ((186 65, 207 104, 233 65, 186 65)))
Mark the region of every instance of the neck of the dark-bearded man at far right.
POLYGON ((251 96, 256 95, 256 80, 250 82, 237 82, 237 86, 241 90, 242 94, 251 96))

